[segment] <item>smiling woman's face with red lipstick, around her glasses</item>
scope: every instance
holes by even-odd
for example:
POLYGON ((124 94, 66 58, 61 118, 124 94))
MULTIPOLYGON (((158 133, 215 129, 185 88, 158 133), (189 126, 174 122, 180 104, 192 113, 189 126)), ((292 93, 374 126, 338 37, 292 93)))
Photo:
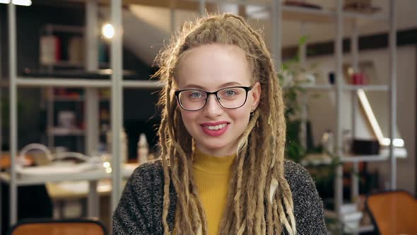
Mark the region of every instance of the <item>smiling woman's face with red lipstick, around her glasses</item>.
MULTIPOLYGON (((200 151, 214 156, 236 153, 251 110, 257 108, 261 96, 261 87, 258 82, 253 84, 251 76, 245 52, 235 45, 203 45, 183 55, 175 76, 177 91, 199 89, 213 92, 233 86, 253 86, 247 93, 245 104, 240 108, 223 108, 219 103, 235 105, 231 100, 237 96, 237 90, 233 88, 219 91, 219 101, 213 94, 207 96, 206 105, 200 110, 184 110, 178 103, 184 126, 200 151)), ((201 100, 204 103, 206 93, 184 93, 181 96, 184 101, 188 100, 188 105, 195 105, 201 100)))

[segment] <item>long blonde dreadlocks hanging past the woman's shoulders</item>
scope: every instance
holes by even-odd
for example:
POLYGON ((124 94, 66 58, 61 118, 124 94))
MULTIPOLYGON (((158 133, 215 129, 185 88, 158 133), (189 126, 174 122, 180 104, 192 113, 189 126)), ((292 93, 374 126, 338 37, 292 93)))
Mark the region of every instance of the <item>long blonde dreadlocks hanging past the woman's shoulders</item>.
POLYGON ((249 62, 252 79, 262 88, 259 106, 239 142, 219 231, 221 234, 281 234, 285 230, 296 234, 292 193, 283 176, 286 122, 281 88, 261 35, 233 14, 187 23, 158 56, 160 69, 155 76, 166 82, 159 102, 163 110, 158 132, 165 178, 162 218, 165 234, 170 234, 167 222, 170 182, 177 192, 177 233, 208 234, 192 176, 193 140, 184 127, 173 94, 175 72, 184 52, 208 44, 240 47, 249 62))

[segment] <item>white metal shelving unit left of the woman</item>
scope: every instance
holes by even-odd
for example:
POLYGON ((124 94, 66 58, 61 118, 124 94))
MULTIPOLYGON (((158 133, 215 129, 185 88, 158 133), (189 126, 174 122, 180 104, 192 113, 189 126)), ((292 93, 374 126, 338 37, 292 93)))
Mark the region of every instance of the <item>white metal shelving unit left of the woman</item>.
MULTIPOLYGON (((120 152, 120 131, 122 130, 122 93, 123 88, 160 88, 163 84, 157 81, 123 81, 122 79, 122 0, 111 1, 111 21, 114 27, 114 38, 111 41, 111 57, 110 69, 112 75, 110 80, 105 79, 61 79, 57 78, 35 78, 21 77, 17 74, 17 45, 16 45, 16 6, 8 4, 8 60, 10 70, 10 81, 8 88, 10 90, 10 152, 11 152, 11 168, 8 173, 0 173, 0 180, 8 183, 10 186, 10 224, 16 224, 17 214, 17 188, 20 185, 36 185, 47 182, 57 182, 62 180, 88 180, 90 182, 90 193, 88 195, 88 215, 98 216, 98 193, 97 181, 105 178, 112 179, 112 200, 111 210, 113 211, 119 202, 122 194, 122 178, 129 177, 132 169, 122 168, 119 161, 120 152), (18 154, 18 136, 17 136, 17 89, 19 87, 37 87, 52 88, 54 86, 64 86, 70 88, 86 89, 86 105, 88 114, 86 115, 86 154, 92 154, 98 144, 98 94, 97 88, 111 88, 111 131, 112 133, 112 173, 106 173, 102 170, 86 171, 77 174, 59 174, 54 176, 37 176, 23 177, 16 172, 16 156, 18 154), (96 110, 97 112, 93 111, 96 110), (97 127, 95 127, 97 125, 97 127)), ((93 71, 98 69, 97 58, 97 35, 98 28, 98 1, 86 1, 86 69, 93 71)), ((71 30, 72 28, 65 28, 71 30)), ((77 30, 78 28, 74 30, 77 30)), ((111 213, 112 214, 112 213, 111 213)), ((4 224, 6 226, 6 224, 4 224)))

